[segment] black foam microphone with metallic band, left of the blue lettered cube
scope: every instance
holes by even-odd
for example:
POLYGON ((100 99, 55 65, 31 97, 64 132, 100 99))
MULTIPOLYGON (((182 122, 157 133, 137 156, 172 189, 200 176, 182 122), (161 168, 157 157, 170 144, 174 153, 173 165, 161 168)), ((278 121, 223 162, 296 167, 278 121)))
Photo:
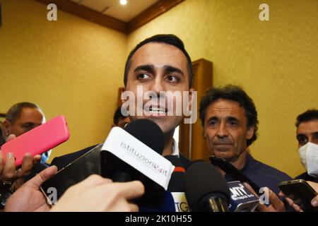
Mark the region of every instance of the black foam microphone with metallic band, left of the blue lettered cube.
POLYGON ((230 191, 222 175, 207 162, 194 162, 185 173, 185 194, 194 212, 228 212, 230 191))

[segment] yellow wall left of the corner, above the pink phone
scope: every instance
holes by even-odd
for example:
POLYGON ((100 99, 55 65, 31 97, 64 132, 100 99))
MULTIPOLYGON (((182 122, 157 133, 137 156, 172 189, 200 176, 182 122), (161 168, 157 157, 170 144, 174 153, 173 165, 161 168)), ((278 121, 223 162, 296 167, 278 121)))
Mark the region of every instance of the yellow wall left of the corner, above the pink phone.
POLYGON ((47 119, 64 114, 71 138, 52 157, 105 140, 117 105, 126 35, 33 0, 1 1, 0 112, 36 102, 47 119))

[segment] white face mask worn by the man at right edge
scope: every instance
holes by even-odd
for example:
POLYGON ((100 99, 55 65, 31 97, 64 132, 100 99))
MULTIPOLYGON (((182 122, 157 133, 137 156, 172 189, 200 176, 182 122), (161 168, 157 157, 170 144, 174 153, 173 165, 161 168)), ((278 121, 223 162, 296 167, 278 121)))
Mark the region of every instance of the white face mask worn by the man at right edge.
POLYGON ((299 148, 300 162, 306 168, 307 174, 318 177, 318 145, 306 143, 299 148))

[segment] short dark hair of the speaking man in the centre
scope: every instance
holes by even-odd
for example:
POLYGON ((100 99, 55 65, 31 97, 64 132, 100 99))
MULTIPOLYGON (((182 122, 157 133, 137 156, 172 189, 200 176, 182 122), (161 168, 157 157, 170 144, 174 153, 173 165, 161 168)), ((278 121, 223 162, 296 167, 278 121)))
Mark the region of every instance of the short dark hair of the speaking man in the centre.
POLYGON ((178 49, 180 49, 184 53, 185 57, 187 57, 187 68, 188 68, 188 73, 189 73, 189 87, 191 87, 192 86, 192 61, 191 61, 189 54, 184 49, 184 44, 183 44, 182 40, 180 40, 179 37, 177 37, 175 35, 154 35, 152 37, 148 37, 146 40, 143 40, 142 42, 137 44, 136 47, 134 47, 134 49, 131 50, 131 52, 129 53, 127 60, 126 60, 125 73, 124 73, 124 85, 127 84, 127 76, 128 76, 128 71, 129 71, 129 68, 131 65, 131 57, 134 56, 135 52, 140 47, 142 47, 143 45, 145 45, 149 42, 170 44, 170 45, 177 47, 178 49))

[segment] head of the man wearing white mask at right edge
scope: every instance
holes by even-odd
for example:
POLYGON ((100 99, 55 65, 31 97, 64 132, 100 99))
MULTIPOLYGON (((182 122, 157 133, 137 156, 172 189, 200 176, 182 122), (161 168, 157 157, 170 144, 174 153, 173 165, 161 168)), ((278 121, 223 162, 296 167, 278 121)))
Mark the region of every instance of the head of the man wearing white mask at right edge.
POLYGON ((296 126, 300 161, 306 172, 295 179, 318 182, 318 110, 298 115, 296 126))

